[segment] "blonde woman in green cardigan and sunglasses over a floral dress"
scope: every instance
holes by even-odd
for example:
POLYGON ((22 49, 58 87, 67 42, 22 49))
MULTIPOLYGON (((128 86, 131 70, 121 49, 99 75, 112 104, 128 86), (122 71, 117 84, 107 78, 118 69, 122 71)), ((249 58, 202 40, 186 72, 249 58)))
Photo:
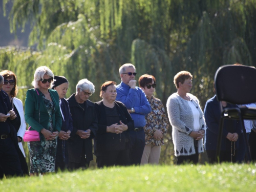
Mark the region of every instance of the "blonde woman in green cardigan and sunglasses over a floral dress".
POLYGON ((55 169, 57 136, 62 119, 58 93, 50 89, 53 77, 48 67, 37 68, 32 82, 35 89, 27 92, 25 119, 31 126, 30 130, 40 133, 40 141, 28 142, 30 176, 54 172, 55 169))

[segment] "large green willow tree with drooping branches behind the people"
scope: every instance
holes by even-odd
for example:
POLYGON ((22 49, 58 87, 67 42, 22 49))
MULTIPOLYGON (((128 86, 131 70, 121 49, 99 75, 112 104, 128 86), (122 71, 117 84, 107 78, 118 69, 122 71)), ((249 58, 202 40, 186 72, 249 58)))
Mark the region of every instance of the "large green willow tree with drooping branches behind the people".
MULTIPOLYGON (((88 78, 96 87, 93 101, 100 99, 101 84, 119 82, 118 68, 132 62, 138 75, 156 77, 163 103, 176 91, 174 75, 190 71, 192 93, 204 106, 214 95, 218 67, 256 61, 256 0, 16 0, 9 18, 13 32, 31 23, 29 45, 37 44, 38 51, 2 51, 1 69, 15 71, 22 62, 19 78, 31 78, 35 67, 49 66, 69 79, 68 96, 79 79, 88 78)), ((166 157, 173 155, 169 143, 163 147, 166 157)))

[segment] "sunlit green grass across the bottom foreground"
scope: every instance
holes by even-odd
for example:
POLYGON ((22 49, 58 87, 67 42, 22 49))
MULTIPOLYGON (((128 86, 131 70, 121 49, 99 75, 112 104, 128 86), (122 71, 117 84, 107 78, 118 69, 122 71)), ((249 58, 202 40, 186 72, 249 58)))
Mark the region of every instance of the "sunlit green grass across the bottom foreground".
POLYGON ((0 191, 256 191, 255 164, 132 166, 0 181, 0 191))

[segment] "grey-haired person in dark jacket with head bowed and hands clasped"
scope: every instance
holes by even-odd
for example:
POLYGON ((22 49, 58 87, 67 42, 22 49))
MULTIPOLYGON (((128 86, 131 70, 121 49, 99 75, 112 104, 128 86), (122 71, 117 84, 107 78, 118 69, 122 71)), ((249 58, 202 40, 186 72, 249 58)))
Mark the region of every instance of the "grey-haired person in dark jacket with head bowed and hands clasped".
POLYGON ((87 168, 93 160, 92 139, 98 131, 94 103, 88 98, 94 93, 94 85, 88 79, 81 79, 76 93, 68 98, 73 119, 73 131, 68 140, 69 169, 87 168))

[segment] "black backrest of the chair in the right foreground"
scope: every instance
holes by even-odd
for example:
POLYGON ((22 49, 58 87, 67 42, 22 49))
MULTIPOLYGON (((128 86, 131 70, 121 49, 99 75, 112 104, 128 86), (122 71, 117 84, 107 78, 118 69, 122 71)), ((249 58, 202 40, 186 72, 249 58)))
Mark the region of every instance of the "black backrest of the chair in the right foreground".
POLYGON ((248 66, 226 65, 215 74, 218 101, 232 104, 256 102, 256 69, 248 66))

